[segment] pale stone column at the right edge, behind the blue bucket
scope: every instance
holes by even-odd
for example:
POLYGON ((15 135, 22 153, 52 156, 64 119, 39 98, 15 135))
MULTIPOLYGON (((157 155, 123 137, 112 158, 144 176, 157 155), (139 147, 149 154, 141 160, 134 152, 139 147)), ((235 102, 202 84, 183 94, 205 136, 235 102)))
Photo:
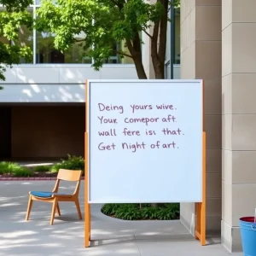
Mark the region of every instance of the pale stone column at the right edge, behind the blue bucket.
POLYGON ((241 251, 239 218, 256 207, 256 1, 222 1, 222 242, 241 251))

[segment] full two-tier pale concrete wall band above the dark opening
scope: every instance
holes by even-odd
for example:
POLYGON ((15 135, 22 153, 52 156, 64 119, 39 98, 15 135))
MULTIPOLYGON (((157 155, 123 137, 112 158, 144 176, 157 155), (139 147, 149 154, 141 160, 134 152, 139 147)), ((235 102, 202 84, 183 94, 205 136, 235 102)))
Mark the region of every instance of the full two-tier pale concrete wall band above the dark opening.
POLYGON ((137 79, 134 65, 20 65, 7 68, 0 102, 84 102, 86 79, 137 79))

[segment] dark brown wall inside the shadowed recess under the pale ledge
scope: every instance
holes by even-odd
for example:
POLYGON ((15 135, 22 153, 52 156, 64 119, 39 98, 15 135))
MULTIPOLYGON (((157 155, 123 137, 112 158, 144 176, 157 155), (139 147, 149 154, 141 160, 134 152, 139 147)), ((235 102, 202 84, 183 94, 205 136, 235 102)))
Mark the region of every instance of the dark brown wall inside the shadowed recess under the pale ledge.
POLYGON ((84 104, 65 107, 13 107, 12 157, 84 155, 84 104))

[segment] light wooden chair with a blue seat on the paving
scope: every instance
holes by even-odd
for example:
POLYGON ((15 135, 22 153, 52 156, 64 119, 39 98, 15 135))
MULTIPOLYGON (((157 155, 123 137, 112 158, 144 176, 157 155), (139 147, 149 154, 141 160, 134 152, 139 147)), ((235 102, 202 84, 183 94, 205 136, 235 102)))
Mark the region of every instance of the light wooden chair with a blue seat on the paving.
POLYGON ((82 175, 82 171, 60 169, 58 172, 56 183, 55 183, 55 188, 53 189, 52 192, 30 191, 28 206, 26 211, 26 221, 29 218, 33 201, 45 201, 53 204, 52 211, 51 211, 51 218, 49 221, 49 224, 51 225, 54 223, 56 210, 58 212, 58 215, 61 216, 61 210, 59 206, 60 201, 73 201, 77 207, 79 219, 82 219, 82 213, 79 205, 79 188, 80 188, 81 175, 82 175), (77 182, 73 195, 58 193, 59 184, 61 180, 77 182))

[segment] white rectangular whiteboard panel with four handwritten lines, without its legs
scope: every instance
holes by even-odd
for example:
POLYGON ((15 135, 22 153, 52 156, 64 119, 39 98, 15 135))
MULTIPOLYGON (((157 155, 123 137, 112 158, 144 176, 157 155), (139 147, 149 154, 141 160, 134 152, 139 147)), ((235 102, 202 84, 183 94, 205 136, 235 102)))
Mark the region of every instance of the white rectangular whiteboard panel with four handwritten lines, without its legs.
POLYGON ((89 202, 201 202, 202 99, 201 80, 89 80, 89 202))

